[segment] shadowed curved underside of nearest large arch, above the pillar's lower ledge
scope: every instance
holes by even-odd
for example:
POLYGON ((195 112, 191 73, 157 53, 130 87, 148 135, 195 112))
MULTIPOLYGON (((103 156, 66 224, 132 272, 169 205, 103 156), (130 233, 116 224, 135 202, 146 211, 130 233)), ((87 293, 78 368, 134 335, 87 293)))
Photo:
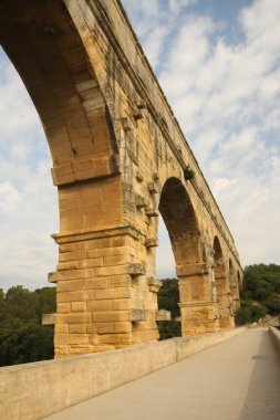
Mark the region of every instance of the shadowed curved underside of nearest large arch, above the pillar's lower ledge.
MULTIPOLYGON (((89 192, 89 185, 80 181, 117 174, 117 146, 108 106, 68 9, 61 1, 3 1, 0 42, 45 132, 59 187, 61 232, 90 230, 93 216, 103 228, 100 210, 106 211, 105 203, 94 197, 92 185, 89 192)), ((120 177, 106 183, 108 190, 117 188, 120 177)), ((104 182, 95 185, 97 196, 104 182)), ((121 220, 120 200, 115 210, 121 220)), ((112 224, 110 218, 106 224, 112 224)))

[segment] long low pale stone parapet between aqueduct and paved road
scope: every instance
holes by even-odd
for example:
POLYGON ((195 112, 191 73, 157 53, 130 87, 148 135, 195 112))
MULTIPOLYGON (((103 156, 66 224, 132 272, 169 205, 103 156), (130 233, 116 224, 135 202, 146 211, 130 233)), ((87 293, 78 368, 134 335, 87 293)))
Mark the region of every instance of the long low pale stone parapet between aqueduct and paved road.
POLYGON ((0 368, 0 419, 34 420, 129 382, 246 330, 0 368))

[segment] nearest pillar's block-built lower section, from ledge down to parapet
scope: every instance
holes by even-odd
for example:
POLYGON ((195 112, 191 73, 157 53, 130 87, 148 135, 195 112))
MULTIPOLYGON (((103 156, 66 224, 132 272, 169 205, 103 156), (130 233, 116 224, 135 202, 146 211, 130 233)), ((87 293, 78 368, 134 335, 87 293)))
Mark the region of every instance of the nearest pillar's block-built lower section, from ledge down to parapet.
MULTIPOLYGON (((128 225, 56 234, 55 357, 158 339, 155 287, 138 255, 142 234, 128 225)), ((155 285, 154 285, 155 286, 155 285)))

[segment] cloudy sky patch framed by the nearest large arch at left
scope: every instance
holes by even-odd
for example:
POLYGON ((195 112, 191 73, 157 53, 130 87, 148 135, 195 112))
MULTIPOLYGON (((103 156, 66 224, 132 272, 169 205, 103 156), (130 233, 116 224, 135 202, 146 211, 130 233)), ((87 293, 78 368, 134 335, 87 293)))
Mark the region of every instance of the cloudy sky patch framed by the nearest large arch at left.
POLYGON ((0 287, 48 285, 58 261, 58 200, 39 116, 0 52, 0 287))

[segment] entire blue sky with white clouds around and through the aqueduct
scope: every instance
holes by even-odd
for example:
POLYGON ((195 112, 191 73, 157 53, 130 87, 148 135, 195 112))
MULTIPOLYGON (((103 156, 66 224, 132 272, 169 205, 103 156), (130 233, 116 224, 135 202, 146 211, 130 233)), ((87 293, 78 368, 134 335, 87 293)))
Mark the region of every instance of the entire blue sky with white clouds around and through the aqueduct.
MULTIPOLYGON (((280 1, 123 0, 235 238, 280 264, 280 1)), ((58 198, 37 111, 0 51, 0 287, 46 286, 58 198)), ((157 276, 174 276, 159 223, 157 276)))

